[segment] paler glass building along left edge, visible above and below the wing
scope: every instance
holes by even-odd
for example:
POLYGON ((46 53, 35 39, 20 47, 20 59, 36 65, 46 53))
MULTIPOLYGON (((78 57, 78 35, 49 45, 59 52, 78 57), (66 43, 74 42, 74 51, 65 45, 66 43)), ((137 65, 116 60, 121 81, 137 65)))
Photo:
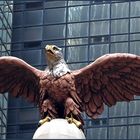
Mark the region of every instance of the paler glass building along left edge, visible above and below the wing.
MULTIPOLYGON (((0 1, 0 56, 10 55, 12 30, 12 1, 0 1)), ((6 138, 8 93, 0 94, 0 139, 6 138)))

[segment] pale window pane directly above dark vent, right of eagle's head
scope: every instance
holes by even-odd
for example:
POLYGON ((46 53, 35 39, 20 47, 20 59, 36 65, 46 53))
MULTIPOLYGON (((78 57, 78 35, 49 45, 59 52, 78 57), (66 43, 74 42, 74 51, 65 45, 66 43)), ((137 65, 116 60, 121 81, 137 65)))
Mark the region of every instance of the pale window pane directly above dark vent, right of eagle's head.
POLYGON ((109 34, 109 21, 92 22, 90 27, 90 35, 106 35, 109 34))

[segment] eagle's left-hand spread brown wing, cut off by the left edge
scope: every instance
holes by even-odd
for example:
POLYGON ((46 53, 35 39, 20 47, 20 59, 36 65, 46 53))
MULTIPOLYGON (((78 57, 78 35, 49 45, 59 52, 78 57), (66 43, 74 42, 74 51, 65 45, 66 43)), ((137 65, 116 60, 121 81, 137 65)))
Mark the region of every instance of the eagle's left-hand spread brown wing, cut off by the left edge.
POLYGON ((0 93, 9 92, 15 97, 23 96, 31 102, 38 102, 40 71, 23 60, 0 57, 0 93))

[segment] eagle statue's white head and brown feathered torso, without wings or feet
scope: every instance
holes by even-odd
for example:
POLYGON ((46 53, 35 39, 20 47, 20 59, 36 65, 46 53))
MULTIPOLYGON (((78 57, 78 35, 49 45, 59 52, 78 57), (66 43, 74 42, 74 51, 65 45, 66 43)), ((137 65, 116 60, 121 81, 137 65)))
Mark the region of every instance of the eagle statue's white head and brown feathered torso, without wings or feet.
MULTIPOLYGON (((42 95, 40 107, 42 118, 44 118, 48 112, 52 118, 65 118, 73 110, 75 110, 75 115, 78 115, 81 100, 76 93, 74 76, 71 74, 70 69, 63 59, 60 48, 54 45, 47 46, 46 55, 48 57, 48 67, 45 70, 46 75, 41 77, 40 80, 40 95, 42 95), (55 48, 55 56, 53 56, 53 48, 55 48), (51 109, 48 107, 49 104, 51 109), (67 109, 66 106, 70 106, 70 109, 67 109), (76 108, 76 106, 78 108, 76 108)), ((80 114, 78 118, 81 119, 80 114)))

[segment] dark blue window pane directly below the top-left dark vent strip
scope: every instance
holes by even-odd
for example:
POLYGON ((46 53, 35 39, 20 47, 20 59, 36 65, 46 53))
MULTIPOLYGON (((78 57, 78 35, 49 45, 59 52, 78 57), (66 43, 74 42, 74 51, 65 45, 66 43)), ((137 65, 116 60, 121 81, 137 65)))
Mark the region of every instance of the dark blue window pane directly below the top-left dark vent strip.
POLYGON ((24 13, 24 25, 41 25, 43 23, 43 11, 27 11, 24 13))

